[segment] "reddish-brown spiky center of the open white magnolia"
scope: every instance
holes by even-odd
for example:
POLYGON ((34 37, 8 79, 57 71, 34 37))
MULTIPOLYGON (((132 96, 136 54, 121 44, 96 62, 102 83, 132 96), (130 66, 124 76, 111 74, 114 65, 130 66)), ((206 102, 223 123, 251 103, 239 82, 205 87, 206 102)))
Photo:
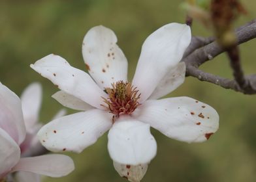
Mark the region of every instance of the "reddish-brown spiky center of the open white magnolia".
POLYGON ((103 106, 114 114, 113 122, 121 114, 131 114, 140 105, 138 103, 140 94, 129 82, 112 83, 112 88, 105 88, 105 91, 108 98, 103 98, 106 103, 103 106))

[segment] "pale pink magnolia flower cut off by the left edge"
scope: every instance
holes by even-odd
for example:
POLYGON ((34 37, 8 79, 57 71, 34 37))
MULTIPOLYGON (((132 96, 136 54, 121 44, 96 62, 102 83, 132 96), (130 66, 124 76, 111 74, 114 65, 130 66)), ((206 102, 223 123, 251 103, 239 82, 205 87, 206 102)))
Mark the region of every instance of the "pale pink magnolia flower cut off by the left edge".
MULTIPOLYGON (((72 159, 66 155, 20 158, 20 145, 25 135, 21 101, 14 92, 0 83, 0 181, 16 171, 60 177, 74 170, 72 159)), ((32 181, 35 182, 34 178, 31 178, 32 181)))

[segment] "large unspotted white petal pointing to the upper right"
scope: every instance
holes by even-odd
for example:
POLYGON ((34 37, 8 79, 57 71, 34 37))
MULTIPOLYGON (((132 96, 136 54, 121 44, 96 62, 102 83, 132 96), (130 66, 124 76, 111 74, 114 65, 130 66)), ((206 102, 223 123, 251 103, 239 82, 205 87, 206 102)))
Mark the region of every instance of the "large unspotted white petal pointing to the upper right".
POLYGON ((142 45, 133 78, 133 85, 141 92, 141 103, 150 97, 167 72, 180 62, 190 42, 189 26, 179 23, 164 25, 148 36, 142 45))

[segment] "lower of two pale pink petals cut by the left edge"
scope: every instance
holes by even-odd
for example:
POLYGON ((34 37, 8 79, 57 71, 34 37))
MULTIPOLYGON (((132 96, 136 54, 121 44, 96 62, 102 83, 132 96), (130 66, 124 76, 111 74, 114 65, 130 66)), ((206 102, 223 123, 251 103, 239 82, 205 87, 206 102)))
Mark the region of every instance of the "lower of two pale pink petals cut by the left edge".
POLYGON ((20 147, 0 128, 0 179, 20 160, 20 147))

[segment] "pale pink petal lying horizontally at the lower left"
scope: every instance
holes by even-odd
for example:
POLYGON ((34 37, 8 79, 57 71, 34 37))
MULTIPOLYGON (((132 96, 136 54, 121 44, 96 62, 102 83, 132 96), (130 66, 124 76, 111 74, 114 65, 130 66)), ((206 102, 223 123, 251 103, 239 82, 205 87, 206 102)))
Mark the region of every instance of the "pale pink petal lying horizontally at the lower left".
POLYGON ((12 168, 12 172, 24 171, 35 174, 61 177, 74 170, 74 162, 67 155, 51 154, 37 157, 24 157, 12 168))

